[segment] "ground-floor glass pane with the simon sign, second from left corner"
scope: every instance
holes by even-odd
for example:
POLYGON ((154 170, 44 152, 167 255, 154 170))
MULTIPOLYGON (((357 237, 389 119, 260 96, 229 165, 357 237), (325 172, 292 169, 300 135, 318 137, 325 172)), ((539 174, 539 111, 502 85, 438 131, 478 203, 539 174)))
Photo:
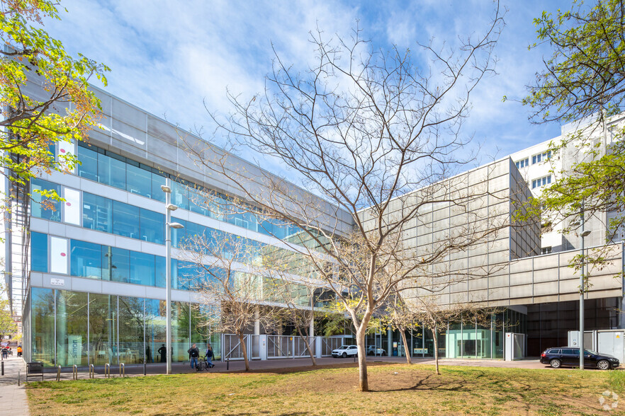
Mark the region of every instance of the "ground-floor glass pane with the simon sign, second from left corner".
POLYGON ((87 294, 56 291, 57 362, 60 366, 85 366, 87 362, 87 294))

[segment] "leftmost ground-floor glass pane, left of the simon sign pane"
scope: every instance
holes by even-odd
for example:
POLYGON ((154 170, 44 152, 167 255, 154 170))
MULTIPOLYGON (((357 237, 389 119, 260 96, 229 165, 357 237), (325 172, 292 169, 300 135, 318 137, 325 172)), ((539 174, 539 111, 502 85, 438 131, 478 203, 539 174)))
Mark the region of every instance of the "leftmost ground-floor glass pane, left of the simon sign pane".
POLYGON ((52 289, 30 291, 31 357, 45 366, 55 365, 55 298, 52 289))

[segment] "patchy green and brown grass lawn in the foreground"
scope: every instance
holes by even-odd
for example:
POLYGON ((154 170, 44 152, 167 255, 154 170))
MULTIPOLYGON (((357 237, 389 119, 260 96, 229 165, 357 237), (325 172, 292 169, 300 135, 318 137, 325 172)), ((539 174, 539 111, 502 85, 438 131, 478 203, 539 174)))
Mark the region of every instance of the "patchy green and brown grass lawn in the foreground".
POLYGON ((377 364, 361 393, 353 365, 309 370, 45 381, 28 400, 31 415, 625 414, 625 394, 610 412, 599 405, 624 393, 625 371, 377 364))

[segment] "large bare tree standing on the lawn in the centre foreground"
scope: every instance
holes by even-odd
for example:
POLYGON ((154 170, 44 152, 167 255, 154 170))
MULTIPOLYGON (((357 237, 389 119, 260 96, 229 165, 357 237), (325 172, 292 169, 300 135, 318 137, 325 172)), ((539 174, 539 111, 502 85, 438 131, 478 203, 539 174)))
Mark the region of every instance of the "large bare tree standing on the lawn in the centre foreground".
POLYGON ((298 230, 283 240, 334 291, 356 328, 361 391, 368 391, 365 335, 373 313, 402 282, 500 229, 483 216, 418 257, 401 250, 424 209, 451 204, 467 213, 471 201, 488 195, 466 184, 456 189, 446 178, 474 160, 461 127, 472 91, 493 71, 501 27, 496 4, 485 35, 461 40, 457 50, 420 45, 432 58, 425 69, 410 50, 373 50, 360 30, 349 40, 312 33, 316 62, 303 74, 276 53, 264 94, 229 95, 230 117, 211 115, 232 144, 277 158, 306 191, 261 168, 242 168, 205 141, 186 142, 204 171, 225 175, 248 204, 298 230), (407 195, 416 189, 422 192, 407 195))

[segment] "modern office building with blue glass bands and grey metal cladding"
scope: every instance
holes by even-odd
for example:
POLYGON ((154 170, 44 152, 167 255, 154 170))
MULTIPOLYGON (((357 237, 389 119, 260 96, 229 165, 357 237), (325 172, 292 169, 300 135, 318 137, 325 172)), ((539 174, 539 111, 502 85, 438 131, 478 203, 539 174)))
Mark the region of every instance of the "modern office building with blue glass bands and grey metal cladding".
MULTIPOLYGON (((29 88, 37 87, 29 84, 29 88)), ((28 206, 14 201, 16 209, 7 221, 9 273, 5 277, 13 308, 22 313, 25 358, 47 366, 161 361, 166 268, 161 186, 165 183, 171 186, 172 203, 178 207, 173 221, 184 225, 172 233, 174 360, 185 361, 193 342, 201 348, 211 342, 218 357, 240 357, 230 338, 205 325, 205 313, 199 310, 198 298, 191 290, 197 266, 184 260, 181 245, 198 235, 239 236, 257 253, 246 260, 262 264, 266 253, 288 250, 283 241, 297 241, 298 230, 261 216, 224 209, 229 203, 225 195, 232 195, 235 185, 194 169, 176 127, 103 91, 96 93, 103 104, 102 128, 91 132, 88 144, 61 142, 55 147, 56 154, 77 155, 79 166, 33 180, 33 201, 28 206), (38 190, 55 190, 64 201, 42 200, 38 190), (206 204, 203 192, 219 203, 206 204)), ((232 163, 255 168, 239 158, 233 157, 232 163)), ((502 192, 523 183, 519 168, 510 158, 452 180, 468 184, 475 178, 502 192)), ((522 186, 527 189, 521 195, 527 197, 529 186, 522 186)), ((495 209, 494 202, 486 205, 495 209)), ((509 216, 509 207, 506 209, 503 215, 509 216)), ((410 234, 412 243, 418 249, 434 243, 437 233, 453 227, 450 212, 449 207, 432 207, 414 230, 407 231, 414 233, 410 234)), ((346 212, 334 207, 327 215, 332 216, 333 229, 351 228, 352 219, 346 212)), ((390 355, 431 357, 433 337, 437 336, 441 357, 495 359, 503 357, 507 332, 527 334, 531 354, 561 344, 563 334, 576 325, 573 309, 578 276, 566 267, 575 253, 540 255, 539 233, 536 228, 509 230, 480 250, 449 259, 463 267, 504 265, 484 279, 454 285, 444 298, 449 302, 461 294, 463 301, 479 298, 489 306, 500 307, 501 312, 492 316, 490 324, 449 323, 438 334, 418 327, 407 333, 409 345, 402 345, 397 331, 388 331, 371 335, 368 343, 383 347, 390 355)), ((611 309, 620 304, 623 294, 622 282, 613 278, 622 272, 622 243, 613 251, 616 266, 592 272, 586 316, 594 324, 587 322, 589 329, 592 325, 596 329, 623 325, 619 314, 611 309)), ((293 258, 294 267, 306 267, 302 259, 293 258)), ((317 306, 328 300, 317 295, 317 306)), ((310 299, 303 296, 302 304, 309 303, 310 299)), ((275 337, 269 342, 278 346, 269 358, 300 355, 300 347, 286 337, 291 329, 285 327, 268 335, 275 337)), ((260 331, 250 328, 248 350, 252 358, 263 358, 258 352, 259 337, 264 336, 260 331)), ((332 346, 350 342, 349 331, 347 334, 335 340, 316 340, 316 354, 327 355, 332 346)))

